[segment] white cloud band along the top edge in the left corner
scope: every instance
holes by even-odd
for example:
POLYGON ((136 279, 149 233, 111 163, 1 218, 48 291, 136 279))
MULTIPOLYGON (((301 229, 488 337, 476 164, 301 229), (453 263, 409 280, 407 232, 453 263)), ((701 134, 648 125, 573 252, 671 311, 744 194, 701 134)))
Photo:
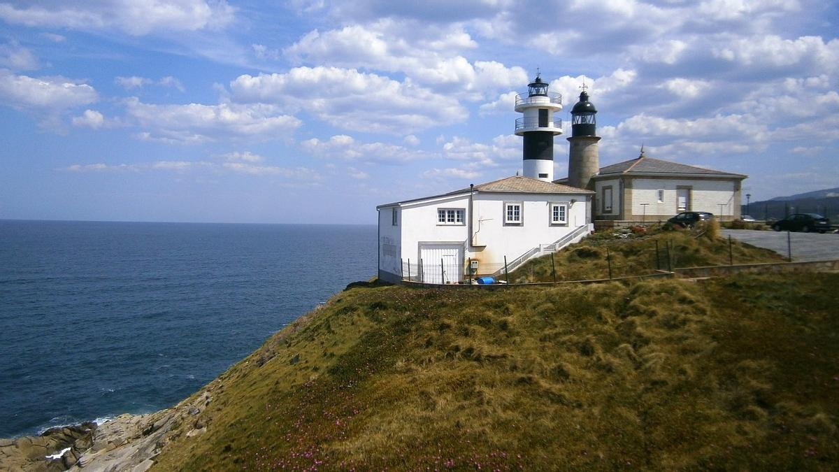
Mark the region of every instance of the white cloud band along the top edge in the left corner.
POLYGON ((230 24, 235 9, 224 0, 103 0, 66 3, 42 0, 18 8, 0 3, 0 18, 29 27, 81 30, 117 29, 133 36, 220 29, 230 24))

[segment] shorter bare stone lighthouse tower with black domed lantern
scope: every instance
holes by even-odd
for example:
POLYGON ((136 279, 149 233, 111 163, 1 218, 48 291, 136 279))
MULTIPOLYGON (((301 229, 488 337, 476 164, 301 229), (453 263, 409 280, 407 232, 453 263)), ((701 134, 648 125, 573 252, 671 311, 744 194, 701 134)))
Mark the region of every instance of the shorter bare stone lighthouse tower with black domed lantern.
MULTIPOLYGON (((600 170, 600 150, 597 147, 597 108, 588 101, 583 84, 580 101, 571 108, 571 143, 568 156, 568 185, 589 188, 592 176, 600 170)), ((591 189, 590 189, 591 190, 591 189)))

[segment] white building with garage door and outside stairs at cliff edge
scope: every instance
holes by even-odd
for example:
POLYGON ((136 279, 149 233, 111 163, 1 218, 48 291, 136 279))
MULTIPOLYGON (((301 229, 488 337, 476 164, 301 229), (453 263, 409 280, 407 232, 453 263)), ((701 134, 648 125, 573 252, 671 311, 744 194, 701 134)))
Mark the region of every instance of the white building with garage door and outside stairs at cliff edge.
POLYGON ((380 205, 378 276, 457 283, 500 275, 593 229, 592 191, 512 176, 433 197, 380 205))

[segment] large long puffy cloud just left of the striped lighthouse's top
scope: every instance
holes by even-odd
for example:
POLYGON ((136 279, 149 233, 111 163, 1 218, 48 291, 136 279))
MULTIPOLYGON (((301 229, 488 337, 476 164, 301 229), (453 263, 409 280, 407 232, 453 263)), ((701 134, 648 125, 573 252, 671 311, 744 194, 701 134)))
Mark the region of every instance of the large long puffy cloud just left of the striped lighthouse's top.
POLYGON ((449 97, 388 77, 336 67, 296 67, 285 74, 238 76, 237 102, 305 110, 337 128, 392 134, 457 123, 468 112, 449 97))

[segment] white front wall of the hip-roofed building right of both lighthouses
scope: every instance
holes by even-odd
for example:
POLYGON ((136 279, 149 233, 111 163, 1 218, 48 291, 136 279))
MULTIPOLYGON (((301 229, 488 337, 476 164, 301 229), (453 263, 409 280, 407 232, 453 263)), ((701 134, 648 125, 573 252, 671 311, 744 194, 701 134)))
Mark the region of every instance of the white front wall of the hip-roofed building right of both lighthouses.
POLYGON ((633 179, 632 213, 644 214, 641 203, 649 203, 647 215, 660 215, 670 218, 676 211, 676 188, 690 186, 690 211, 711 212, 718 217, 731 217, 735 205, 735 181, 714 181, 706 179, 633 179), (657 193, 664 190, 664 202, 658 202, 657 193), (723 205, 722 213, 720 212, 723 205))

